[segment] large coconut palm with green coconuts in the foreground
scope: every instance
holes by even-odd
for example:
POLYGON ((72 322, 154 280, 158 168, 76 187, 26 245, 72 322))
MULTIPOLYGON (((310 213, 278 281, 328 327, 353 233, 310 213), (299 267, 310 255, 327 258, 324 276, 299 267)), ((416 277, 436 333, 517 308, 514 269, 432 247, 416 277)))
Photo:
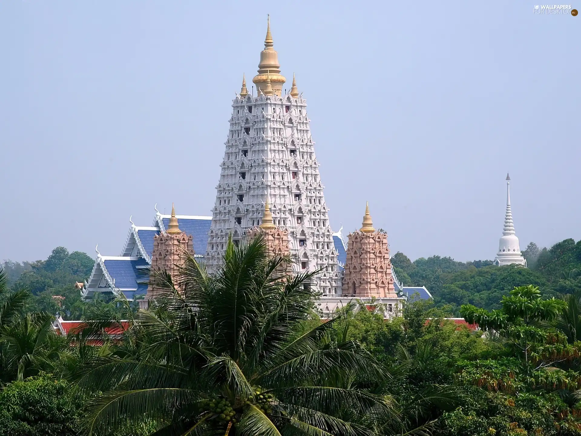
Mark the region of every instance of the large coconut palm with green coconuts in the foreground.
POLYGON ((156 435, 378 434, 392 402, 354 383, 381 378, 378 363, 318 320, 314 273, 287 277, 284 262, 255 238, 229 241, 216 274, 191 256, 178 277, 154 271, 166 294, 81 370, 78 385, 103 392, 87 433, 155 420, 156 435))

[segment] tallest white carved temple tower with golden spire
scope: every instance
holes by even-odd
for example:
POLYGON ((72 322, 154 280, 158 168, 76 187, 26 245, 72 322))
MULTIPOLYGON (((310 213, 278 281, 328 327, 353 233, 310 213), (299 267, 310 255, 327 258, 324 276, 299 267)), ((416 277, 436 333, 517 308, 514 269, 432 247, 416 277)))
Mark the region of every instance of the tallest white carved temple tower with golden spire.
POLYGON ((294 271, 322 268, 314 287, 325 295, 339 295, 337 253, 307 103, 294 76, 292 88, 282 95, 286 79, 273 45, 269 20, 259 74, 253 79, 257 95, 249 94, 244 77, 232 102, 206 265, 210 270, 220 265, 230 234, 237 243, 261 223, 268 201, 274 224, 288 231, 294 271))

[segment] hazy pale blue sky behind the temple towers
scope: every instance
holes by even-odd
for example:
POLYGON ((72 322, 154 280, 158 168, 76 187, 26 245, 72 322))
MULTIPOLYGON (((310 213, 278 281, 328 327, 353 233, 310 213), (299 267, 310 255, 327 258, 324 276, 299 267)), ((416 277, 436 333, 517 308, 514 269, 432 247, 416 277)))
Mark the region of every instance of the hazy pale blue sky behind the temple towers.
POLYGON ((267 13, 333 229, 369 200, 392 253, 492 259, 508 171, 521 248, 578 240, 581 16, 533 7, 3 0, 0 259, 118 255, 155 203, 210 215, 267 13))

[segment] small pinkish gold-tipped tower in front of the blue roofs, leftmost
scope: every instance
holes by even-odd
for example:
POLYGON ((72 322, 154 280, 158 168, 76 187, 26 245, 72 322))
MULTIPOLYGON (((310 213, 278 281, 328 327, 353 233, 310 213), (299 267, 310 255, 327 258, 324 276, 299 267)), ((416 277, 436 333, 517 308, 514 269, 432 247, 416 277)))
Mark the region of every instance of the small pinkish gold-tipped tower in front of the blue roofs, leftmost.
MULTIPOLYGON (((167 231, 153 237, 153 252, 151 269, 166 270, 175 279, 178 268, 184 265, 187 255, 194 255, 193 237, 180 230, 177 217, 175 217, 174 206, 171 206, 171 217, 167 231)), ((160 290, 149 284, 146 300, 155 298, 160 290)))

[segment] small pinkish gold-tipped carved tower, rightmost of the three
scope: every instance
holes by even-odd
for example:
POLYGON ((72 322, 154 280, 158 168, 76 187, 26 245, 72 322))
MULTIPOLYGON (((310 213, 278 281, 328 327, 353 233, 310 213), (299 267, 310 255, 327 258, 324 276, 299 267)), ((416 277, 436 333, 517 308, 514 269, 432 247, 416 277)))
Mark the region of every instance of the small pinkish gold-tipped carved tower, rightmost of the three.
POLYGON ((343 295, 397 298, 389 260, 388 235, 375 231, 365 208, 363 226, 349 234, 343 295))

